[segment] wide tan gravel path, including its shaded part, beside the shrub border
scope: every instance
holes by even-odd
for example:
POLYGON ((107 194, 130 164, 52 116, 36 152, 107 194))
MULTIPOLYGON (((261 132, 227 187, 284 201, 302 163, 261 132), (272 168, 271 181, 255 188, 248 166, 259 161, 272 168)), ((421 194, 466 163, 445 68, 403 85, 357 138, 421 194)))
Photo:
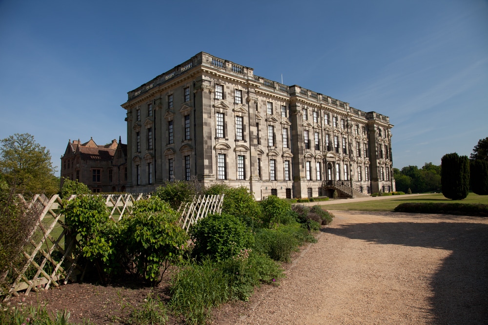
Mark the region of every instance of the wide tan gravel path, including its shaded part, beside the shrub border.
POLYGON ((488 324, 488 219, 332 212, 236 324, 488 324))

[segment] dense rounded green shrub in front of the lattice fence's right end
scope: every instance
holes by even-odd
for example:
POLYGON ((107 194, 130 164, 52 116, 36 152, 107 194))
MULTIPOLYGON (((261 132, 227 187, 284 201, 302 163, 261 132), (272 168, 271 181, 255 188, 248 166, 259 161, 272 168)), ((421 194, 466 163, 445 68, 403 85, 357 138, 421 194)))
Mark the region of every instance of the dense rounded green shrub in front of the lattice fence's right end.
POLYGON ((190 235, 196 241, 193 252, 197 257, 209 255, 218 261, 252 248, 254 242, 251 230, 228 213, 207 215, 191 228, 190 235))

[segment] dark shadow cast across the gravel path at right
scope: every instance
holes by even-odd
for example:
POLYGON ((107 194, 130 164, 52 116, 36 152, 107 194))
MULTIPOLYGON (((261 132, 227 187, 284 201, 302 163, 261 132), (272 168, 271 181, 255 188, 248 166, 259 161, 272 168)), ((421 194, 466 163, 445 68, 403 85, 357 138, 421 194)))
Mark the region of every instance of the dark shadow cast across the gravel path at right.
POLYGON ((451 250, 439 272, 430 279, 434 324, 488 324, 488 225, 476 223, 475 219, 472 223, 421 220, 346 224, 323 231, 377 244, 451 250))

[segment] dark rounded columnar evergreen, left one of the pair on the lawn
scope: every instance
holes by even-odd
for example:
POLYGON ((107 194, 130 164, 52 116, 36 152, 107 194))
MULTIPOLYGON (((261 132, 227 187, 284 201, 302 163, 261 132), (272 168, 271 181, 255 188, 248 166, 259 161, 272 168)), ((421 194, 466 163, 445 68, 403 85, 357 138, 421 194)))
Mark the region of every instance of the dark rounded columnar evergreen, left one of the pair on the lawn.
POLYGON ((442 194, 452 200, 462 200, 469 192, 468 156, 447 153, 441 159, 442 194))

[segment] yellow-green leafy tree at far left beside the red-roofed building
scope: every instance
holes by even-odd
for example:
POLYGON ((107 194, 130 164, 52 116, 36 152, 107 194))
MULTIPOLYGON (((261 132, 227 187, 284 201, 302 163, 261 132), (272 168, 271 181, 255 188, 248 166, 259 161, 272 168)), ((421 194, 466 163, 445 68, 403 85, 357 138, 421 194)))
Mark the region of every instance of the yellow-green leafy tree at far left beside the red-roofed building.
POLYGON ((51 154, 33 135, 16 133, 0 144, 0 172, 17 193, 51 195, 59 191, 51 154))

